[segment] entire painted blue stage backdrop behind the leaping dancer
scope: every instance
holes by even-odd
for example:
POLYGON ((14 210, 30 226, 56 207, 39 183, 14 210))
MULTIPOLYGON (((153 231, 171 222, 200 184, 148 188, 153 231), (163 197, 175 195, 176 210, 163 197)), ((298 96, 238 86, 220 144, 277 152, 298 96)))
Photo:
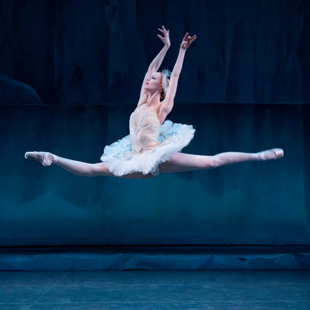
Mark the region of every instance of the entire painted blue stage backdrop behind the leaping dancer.
POLYGON ((310 244, 308 1, 0 1, 0 246, 310 244), (276 161, 131 180, 81 177, 26 151, 100 162, 128 134, 148 64, 188 31, 173 122, 184 153, 284 149, 276 161))

